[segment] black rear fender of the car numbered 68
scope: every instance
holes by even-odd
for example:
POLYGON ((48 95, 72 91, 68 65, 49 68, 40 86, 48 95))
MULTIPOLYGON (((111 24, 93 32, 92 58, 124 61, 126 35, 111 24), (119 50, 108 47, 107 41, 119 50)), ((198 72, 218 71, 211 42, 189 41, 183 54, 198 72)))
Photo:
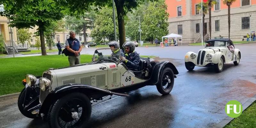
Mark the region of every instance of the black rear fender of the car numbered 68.
POLYGON ((151 71, 153 73, 150 77, 148 85, 156 85, 158 83, 160 74, 162 73, 162 71, 164 70, 165 67, 171 68, 174 75, 179 74, 177 68, 171 62, 169 62, 169 61, 158 62, 158 63, 156 63, 156 65, 154 67, 152 67, 153 69, 151 71))

